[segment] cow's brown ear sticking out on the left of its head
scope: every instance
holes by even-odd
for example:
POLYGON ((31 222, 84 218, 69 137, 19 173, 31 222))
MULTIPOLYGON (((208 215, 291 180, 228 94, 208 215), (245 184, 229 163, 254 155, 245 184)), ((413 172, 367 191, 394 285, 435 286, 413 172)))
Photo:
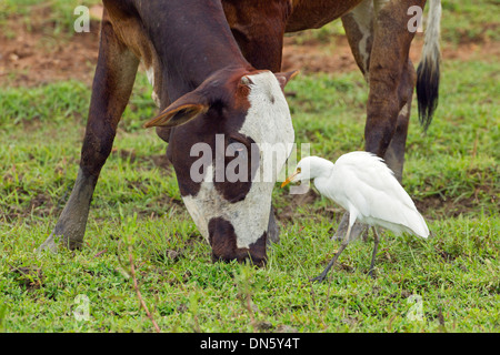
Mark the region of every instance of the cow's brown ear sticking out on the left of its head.
POLYGON ((191 91, 172 102, 159 115, 144 123, 144 128, 167 126, 172 128, 191 121, 199 114, 209 110, 206 98, 197 91, 191 91))

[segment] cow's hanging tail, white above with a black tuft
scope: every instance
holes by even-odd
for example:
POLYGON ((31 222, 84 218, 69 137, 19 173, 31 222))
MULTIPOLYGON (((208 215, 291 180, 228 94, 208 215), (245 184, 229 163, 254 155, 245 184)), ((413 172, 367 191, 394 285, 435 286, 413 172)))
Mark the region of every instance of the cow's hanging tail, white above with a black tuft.
POLYGON ((426 39, 422 50, 422 60, 417 69, 417 100, 419 119, 423 130, 427 131, 432 121, 439 99, 439 62, 441 51, 439 48, 441 22, 441 0, 431 0, 426 29, 426 39))

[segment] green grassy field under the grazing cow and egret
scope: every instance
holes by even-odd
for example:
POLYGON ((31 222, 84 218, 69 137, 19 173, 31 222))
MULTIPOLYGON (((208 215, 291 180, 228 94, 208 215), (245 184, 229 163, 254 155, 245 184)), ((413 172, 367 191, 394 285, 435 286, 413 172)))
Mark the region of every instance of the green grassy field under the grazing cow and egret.
MULTIPOLYGON (((14 12, 29 22, 30 7, 17 2, 2 2, 0 26, 14 12)), ((69 36, 72 8, 62 3, 50 2, 53 29, 69 36)), ((493 2, 460 3, 443 4, 446 44, 466 37, 498 45, 492 11, 479 10, 493 2), (482 22, 463 23, 479 12, 482 22), (457 36, 457 19, 466 34, 457 36)), ((156 112, 143 73, 101 173, 86 246, 37 256, 77 175, 90 88, 0 88, 0 332, 153 332, 132 287, 129 246, 162 332, 499 332, 500 64, 484 57, 442 67, 427 134, 413 105, 402 181, 432 236, 383 232, 372 280, 370 234, 348 246, 323 284, 309 277, 338 247, 330 236, 342 212, 313 191, 292 196, 277 184, 281 243, 266 268, 211 262, 164 162, 166 144, 141 128, 156 112), (84 304, 89 316, 79 320, 84 304)), ((360 73, 302 74, 287 92, 297 142, 311 143, 312 154, 334 160, 362 149, 360 73)))

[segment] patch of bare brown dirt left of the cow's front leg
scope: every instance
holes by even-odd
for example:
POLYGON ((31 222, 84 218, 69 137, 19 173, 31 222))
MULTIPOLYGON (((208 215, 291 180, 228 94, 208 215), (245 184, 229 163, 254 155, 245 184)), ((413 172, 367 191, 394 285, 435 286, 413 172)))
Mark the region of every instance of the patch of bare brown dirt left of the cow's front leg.
MULTIPOLYGON (((37 11, 43 17, 44 10, 37 11)), ((99 49, 99 22, 89 33, 52 36, 44 24, 31 29, 22 18, 8 20, 9 32, 0 32, 0 85, 34 87, 60 80, 91 84, 99 49)))

